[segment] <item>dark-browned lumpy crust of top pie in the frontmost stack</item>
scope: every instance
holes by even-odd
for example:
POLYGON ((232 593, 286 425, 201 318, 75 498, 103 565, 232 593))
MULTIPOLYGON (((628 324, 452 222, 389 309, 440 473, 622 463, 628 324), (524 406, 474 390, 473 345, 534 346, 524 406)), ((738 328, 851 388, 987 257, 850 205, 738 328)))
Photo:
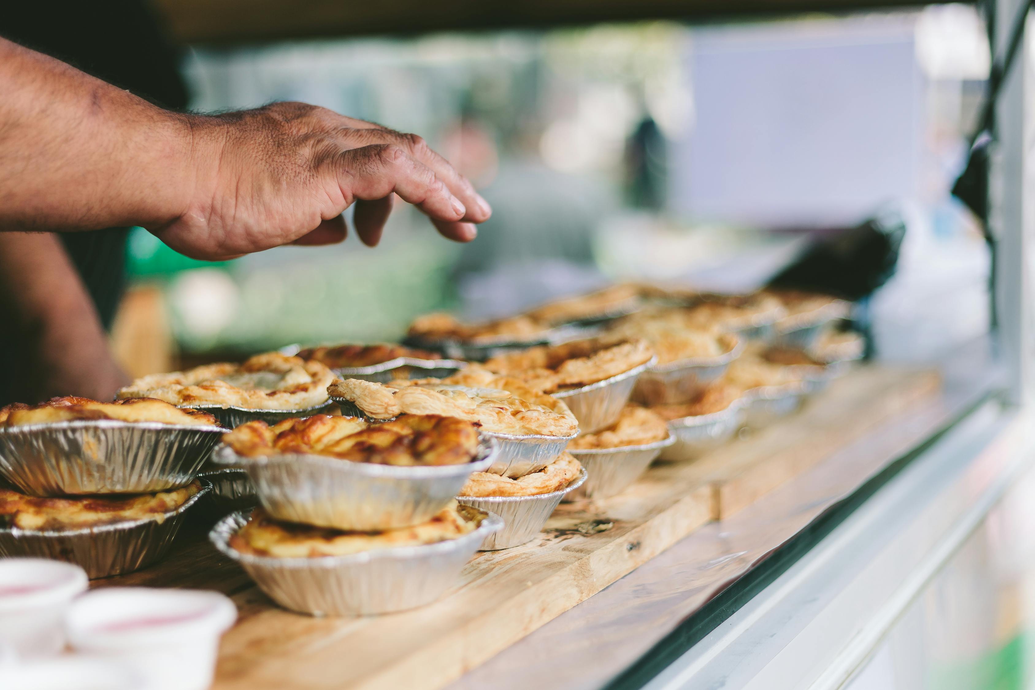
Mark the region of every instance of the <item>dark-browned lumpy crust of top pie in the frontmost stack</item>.
POLYGON ((286 419, 273 426, 255 421, 223 434, 223 442, 245 457, 312 453, 395 466, 463 464, 478 452, 474 424, 437 415, 403 415, 382 424, 327 415, 286 419))

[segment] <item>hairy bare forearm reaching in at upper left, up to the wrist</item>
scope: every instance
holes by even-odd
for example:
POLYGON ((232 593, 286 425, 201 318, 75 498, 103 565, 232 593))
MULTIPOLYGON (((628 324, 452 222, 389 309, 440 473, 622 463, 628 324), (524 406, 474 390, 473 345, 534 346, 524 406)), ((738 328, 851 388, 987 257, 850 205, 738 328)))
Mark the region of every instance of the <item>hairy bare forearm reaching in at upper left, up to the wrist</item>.
POLYGON ((186 116, 0 38, 0 226, 161 227, 198 167, 186 116))

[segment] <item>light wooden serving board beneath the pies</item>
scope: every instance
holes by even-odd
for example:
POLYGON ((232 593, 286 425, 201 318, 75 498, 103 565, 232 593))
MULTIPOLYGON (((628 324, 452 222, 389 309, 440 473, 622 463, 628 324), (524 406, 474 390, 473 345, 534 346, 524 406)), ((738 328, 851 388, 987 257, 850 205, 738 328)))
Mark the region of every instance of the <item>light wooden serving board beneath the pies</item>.
POLYGON ((930 372, 854 371, 768 429, 694 462, 656 463, 618 497, 562 505, 537 540, 478 554, 456 589, 412 611, 314 619, 282 610, 207 544, 202 524, 162 564, 95 586, 231 595, 240 617, 223 639, 216 690, 439 688, 937 390, 930 372))

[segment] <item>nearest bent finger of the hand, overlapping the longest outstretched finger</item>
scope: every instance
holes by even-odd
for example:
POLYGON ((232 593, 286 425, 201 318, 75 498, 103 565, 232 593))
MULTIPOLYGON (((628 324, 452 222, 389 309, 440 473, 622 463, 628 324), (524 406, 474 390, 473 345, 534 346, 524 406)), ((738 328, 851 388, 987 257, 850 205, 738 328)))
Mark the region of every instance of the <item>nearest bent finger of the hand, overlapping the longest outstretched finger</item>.
POLYGON ((456 221, 467 208, 430 168, 390 144, 375 144, 343 151, 338 158, 339 183, 346 197, 373 201, 392 191, 438 220, 456 221))

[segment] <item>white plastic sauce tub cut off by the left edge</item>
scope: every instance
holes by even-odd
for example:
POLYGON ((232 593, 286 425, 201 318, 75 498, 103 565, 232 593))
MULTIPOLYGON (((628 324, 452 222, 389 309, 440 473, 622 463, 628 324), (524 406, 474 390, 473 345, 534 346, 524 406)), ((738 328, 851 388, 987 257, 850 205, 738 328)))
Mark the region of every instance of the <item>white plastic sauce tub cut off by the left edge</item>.
POLYGON ((65 612, 87 582, 70 563, 0 559, 0 643, 23 658, 61 652, 65 612))

